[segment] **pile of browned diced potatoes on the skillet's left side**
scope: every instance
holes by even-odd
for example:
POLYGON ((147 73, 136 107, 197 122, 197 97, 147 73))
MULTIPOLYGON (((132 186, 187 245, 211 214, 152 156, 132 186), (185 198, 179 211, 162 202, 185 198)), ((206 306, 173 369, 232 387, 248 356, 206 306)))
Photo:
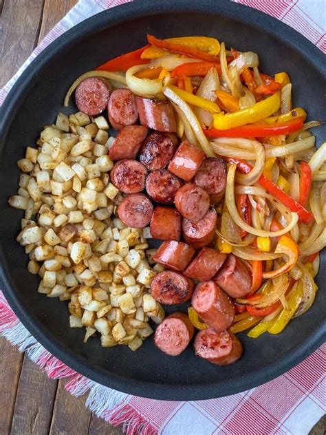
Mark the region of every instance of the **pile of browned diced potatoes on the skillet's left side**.
POLYGON ((113 138, 103 116, 58 114, 36 145, 17 162, 17 195, 9 204, 25 210, 17 241, 41 277, 39 293, 68 301, 69 324, 98 332, 102 346, 137 350, 160 323, 164 310, 149 294, 155 250, 146 230, 127 228, 114 213, 122 195, 110 182, 113 138), (36 215, 35 218, 34 215, 36 215))

